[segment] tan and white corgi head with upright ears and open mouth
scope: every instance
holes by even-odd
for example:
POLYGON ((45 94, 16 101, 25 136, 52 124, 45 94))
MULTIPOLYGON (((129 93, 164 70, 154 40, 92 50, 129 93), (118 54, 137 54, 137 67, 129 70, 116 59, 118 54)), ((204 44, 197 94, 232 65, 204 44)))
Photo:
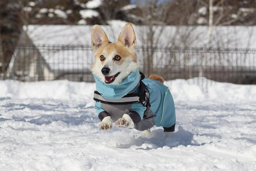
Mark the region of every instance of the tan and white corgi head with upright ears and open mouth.
POLYGON ((92 48, 96 59, 92 73, 101 82, 119 84, 138 68, 135 46, 136 37, 130 23, 122 29, 117 43, 110 42, 104 30, 95 25, 92 30, 92 48))

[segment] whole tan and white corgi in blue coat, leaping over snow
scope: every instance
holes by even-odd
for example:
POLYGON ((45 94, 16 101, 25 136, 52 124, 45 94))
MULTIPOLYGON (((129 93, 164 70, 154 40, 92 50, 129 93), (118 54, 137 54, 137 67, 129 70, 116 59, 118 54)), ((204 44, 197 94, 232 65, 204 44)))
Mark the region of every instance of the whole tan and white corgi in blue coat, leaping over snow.
POLYGON ((110 42, 104 30, 95 25, 91 45, 95 56, 91 71, 97 89, 95 97, 98 101, 96 100, 95 108, 101 120, 99 129, 111 129, 114 121, 118 127, 135 128, 139 131, 149 132, 156 125, 164 128, 165 135, 173 132, 174 102, 168 87, 163 84, 163 78, 153 74, 140 81, 135 53, 136 36, 132 24, 124 26, 116 43, 110 42), (131 93, 139 93, 140 84, 145 84, 150 94, 151 107, 147 110, 147 116, 145 105, 122 101, 131 93))

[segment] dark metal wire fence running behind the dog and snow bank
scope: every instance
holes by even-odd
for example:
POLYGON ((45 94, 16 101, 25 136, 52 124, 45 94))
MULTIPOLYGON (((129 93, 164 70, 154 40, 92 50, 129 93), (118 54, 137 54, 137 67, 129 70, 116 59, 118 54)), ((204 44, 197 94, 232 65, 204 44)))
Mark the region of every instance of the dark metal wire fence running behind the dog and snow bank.
MULTIPOLYGON (((137 47, 136 53, 140 71, 147 76, 156 73, 165 80, 206 77, 222 82, 256 83, 256 49, 137 47)), ((93 50, 88 45, 19 44, 0 72, 0 79, 93 82, 93 62, 93 50)))

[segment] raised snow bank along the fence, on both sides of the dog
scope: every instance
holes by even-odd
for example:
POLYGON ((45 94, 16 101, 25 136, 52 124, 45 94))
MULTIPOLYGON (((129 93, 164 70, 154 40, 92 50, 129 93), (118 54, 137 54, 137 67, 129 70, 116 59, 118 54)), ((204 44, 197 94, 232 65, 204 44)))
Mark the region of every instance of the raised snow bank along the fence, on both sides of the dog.
MULTIPOLYGON (((165 81, 175 101, 256 101, 256 85, 239 85, 208 80, 207 93, 197 83, 197 78, 165 81)), ((202 80, 199 80, 202 81, 202 80)), ((207 81, 207 80, 203 80, 207 81)), ((20 82, 0 81, 0 97, 16 99, 43 98, 60 100, 92 101, 94 83, 72 82, 67 80, 20 82)))

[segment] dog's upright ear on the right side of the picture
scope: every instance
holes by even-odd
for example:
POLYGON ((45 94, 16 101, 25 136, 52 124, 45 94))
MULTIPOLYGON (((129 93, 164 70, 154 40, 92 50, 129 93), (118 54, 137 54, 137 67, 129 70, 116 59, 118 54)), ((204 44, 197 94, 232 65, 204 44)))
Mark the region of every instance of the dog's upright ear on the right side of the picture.
POLYGON ((118 42, 121 42, 122 44, 124 44, 125 46, 128 46, 129 48, 130 47, 134 48, 136 46, 135 32, 131 23, 128 23, 124 26, 124 28, 122 29, 118 37, 118 42))

